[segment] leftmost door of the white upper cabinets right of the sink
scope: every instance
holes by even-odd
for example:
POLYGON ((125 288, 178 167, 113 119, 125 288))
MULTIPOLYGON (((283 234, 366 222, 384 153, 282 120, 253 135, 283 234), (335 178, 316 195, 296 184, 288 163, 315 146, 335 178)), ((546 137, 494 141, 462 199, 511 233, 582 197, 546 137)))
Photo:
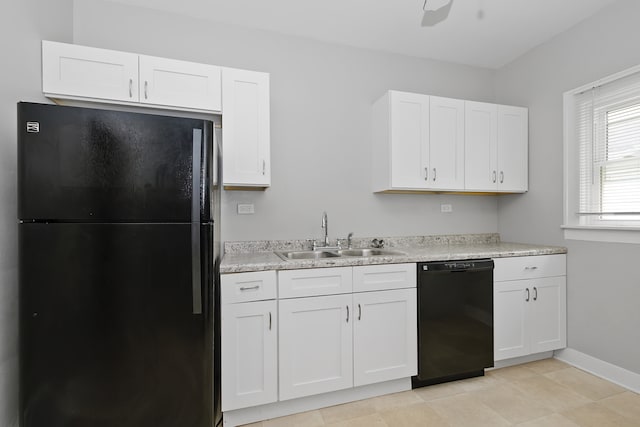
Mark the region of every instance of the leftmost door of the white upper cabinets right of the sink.
POLYGON ((429 168, 429 96, 406 92, 390 92, 389 96, 391 187, 425 188, 429 168))

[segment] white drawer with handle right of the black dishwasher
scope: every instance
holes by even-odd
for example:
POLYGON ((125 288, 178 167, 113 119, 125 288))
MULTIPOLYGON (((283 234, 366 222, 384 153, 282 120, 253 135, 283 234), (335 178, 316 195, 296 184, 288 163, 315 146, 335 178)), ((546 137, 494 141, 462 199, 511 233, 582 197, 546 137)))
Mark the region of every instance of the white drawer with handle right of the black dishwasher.
POLYGON ((496 258, 493 262, 493 280, 496 282, 564 276, 567 272, 564 254, 496 258))

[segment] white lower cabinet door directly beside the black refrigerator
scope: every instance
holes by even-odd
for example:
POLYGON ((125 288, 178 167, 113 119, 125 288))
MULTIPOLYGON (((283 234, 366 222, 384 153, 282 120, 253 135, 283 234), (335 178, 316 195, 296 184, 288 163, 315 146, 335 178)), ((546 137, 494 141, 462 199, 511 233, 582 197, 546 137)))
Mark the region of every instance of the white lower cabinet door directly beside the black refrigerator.
POLYGON ((222 306, 222 410, 278 398, 276 301, 222 306))

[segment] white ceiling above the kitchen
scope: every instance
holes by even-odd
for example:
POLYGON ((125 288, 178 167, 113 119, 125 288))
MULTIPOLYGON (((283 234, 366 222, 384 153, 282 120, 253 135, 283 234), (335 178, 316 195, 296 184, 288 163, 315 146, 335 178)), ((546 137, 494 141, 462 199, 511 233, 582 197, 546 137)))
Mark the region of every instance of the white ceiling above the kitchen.
MULTIPOLYGON (((454 0, 421 27, 424 0, 111 0, 349 46, 500 68, 616 0, 454 0)), ((434 7, 446 3, 428 0, 434 7)))

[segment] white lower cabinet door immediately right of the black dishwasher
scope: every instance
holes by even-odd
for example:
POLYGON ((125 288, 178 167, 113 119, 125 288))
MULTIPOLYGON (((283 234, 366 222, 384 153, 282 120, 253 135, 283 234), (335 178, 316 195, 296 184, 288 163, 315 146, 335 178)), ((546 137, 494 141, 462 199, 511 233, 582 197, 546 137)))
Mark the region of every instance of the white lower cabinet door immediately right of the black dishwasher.
POLYGON ((531 353, 529 301, 532 295, 529 282, 495 282, 493 289, 494 359, 510 359, 531 353))

